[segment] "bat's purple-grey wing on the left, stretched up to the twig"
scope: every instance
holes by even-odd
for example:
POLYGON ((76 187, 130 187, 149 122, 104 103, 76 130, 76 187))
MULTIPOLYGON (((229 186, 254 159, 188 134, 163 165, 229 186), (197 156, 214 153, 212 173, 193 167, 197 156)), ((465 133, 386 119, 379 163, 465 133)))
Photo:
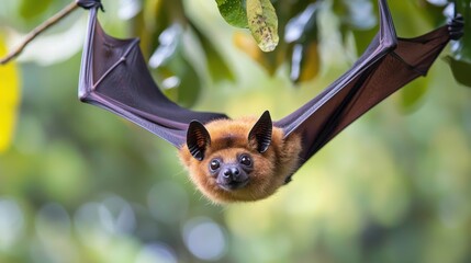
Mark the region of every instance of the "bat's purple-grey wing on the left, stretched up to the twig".
POLYGON ((113 112, 176 147, 186 142, 191 121, 208 123, 224 114, 194 112, 168 100, 154 82, 137 38, 116 39, 97 21, 98 7, 90 10, 79 77, 82 102, 113 112))

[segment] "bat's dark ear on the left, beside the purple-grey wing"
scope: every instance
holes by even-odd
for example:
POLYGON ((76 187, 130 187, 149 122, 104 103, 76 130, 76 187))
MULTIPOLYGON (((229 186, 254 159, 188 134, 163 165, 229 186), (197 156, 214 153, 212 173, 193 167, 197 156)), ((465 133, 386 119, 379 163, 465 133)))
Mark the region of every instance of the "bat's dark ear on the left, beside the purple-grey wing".
POLYGON ((188 126, 187 146, 190 153, 199 161, 204 159, 204 151, 211 145, 211 136, 206 128, 198 121, 188 126))

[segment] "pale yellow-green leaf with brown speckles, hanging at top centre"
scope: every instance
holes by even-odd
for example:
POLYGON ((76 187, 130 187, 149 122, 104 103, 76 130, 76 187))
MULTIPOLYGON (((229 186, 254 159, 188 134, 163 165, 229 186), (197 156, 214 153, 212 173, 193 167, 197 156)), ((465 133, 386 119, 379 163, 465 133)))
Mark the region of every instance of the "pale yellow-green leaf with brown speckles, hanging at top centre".
POLYGON ((262 52, 278 45, 278 18, 270 0, 247 0, 248 27, 262 52))

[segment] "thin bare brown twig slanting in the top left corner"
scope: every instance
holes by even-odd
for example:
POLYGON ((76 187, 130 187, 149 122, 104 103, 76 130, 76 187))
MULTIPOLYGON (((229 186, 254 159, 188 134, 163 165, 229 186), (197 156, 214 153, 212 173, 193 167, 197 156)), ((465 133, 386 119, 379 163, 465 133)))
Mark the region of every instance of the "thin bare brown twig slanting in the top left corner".
POLYGON ((21 43, 20 46, 16 47, 16 49, 10 52, 7 56, 0 59, 0 65, 4 65, 8 61, 10 61, 12 58, 20 55, 21 52, 23 52, 24 47, 32 42, 38 34, 47 30, 49 26, 56 24, 61 19, 64 19, 67 14, 72 12, 76 8, 78 8, 78 4, 76 1, 72 1, 69 5, 60 10, 58 13, 49 18, 48 20, 44 21, 41 25, 38 25, 36 28, 34 28, 32 32, 30 32, 26 35, 26 38, 21 43))

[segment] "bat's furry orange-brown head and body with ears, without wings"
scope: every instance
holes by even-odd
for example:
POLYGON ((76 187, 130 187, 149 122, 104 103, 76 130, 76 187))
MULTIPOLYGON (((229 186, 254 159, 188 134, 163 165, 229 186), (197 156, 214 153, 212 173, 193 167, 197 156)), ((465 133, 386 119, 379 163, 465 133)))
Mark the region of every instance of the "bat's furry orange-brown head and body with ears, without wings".
POLYGON ((257 201, 273 194, 299 164, 301 139, 256 118, 190 124, 180 159, 191 180, 215 203, 257 201))

